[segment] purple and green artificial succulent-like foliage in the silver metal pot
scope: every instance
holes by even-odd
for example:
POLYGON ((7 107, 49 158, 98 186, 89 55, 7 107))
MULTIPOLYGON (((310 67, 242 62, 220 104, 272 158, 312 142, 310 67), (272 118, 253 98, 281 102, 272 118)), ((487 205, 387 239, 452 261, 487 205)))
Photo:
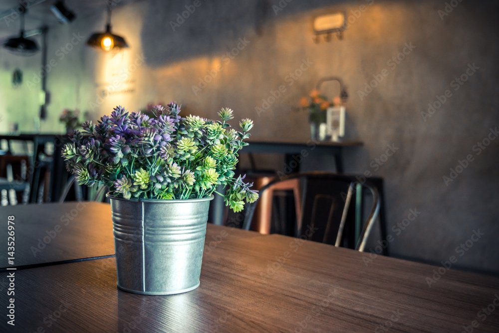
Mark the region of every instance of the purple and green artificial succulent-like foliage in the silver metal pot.
POLYGON ((242 211, 258 198, 233 171, 253 122, 243 119, 236 131, 227 123, 234 118, 231 109, 218 112, 219 121, 182 118, 180 109, 176 102, 157 105, 149 117, 118 106, 97 124, 86 121, 64 146, 67 170, 79 184, 103 183, 125 199, 206 198, 225 185, 226 205, 242 211))

